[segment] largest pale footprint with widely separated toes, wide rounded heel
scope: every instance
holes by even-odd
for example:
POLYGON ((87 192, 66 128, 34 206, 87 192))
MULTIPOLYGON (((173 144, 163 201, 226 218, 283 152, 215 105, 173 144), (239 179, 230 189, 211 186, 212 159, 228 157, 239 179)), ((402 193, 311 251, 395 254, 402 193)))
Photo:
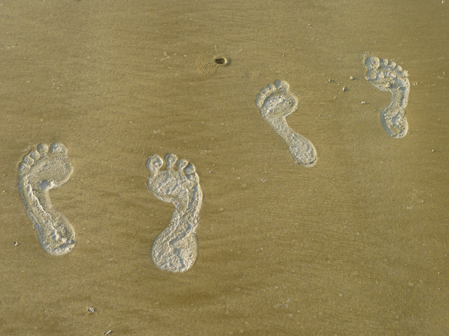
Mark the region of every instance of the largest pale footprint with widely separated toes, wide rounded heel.
POLYGON ((160 200, 175 206, 170 224, 154 240, 151 258, 154 265, 171 272, 187 271, 198 255, 195 234, 199 222, 202 191, 192 164, 176 155, 167 154, 167 168, 160 170, 163 160, 150 156, 146 168, 150 172, 148 189, 160 200), (176 170, 173 169, 176 162, 176 170))

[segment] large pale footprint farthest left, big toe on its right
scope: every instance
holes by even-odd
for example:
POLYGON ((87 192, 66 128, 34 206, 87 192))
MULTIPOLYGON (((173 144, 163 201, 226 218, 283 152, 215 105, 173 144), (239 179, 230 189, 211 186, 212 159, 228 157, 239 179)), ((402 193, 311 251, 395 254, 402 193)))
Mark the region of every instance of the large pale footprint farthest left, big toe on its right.
POLYGON ((62 255, 75 246, 75 231, 65 215, 53 207, 48 191, 70 179, 73 167, 62 143, 39 144, 19 164, 19 192, 26 215, 49 254, 62 255))

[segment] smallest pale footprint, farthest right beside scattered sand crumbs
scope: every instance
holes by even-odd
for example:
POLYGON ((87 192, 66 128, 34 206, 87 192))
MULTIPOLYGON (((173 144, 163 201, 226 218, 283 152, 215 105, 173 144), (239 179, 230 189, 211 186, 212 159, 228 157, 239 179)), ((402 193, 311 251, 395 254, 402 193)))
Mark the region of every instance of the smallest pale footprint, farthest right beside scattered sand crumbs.
POLYGON ((381 91, 392 95, 390 104, 380 112, 383 129, 393 138, 402 138, 407 134, 409 125, 405 119, 405 107, 409 101, 410 83, 407 70, 393 61, 377 57, 365 59, 366 79, 381 91))

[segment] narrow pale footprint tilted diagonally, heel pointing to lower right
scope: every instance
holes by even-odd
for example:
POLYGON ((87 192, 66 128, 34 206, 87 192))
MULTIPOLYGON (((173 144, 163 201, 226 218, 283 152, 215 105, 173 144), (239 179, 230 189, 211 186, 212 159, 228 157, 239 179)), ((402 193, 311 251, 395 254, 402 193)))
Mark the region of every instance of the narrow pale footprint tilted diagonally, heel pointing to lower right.
POLYGON ((298 109, 298 99, 289 91, 285 81, 276 81, 265 86, 255 99, 260 115, 287 143, 297 164, 312 167, 317 162, 317 151, 312 142, 296 133, 285 119, 298 109))

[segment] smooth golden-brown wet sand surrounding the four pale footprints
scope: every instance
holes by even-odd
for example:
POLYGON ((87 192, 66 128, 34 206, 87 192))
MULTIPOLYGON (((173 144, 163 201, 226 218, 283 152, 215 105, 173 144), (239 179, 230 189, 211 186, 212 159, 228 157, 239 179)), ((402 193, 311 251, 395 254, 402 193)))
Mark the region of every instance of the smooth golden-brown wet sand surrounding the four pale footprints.
POLYGON ((446 335, 449 1, 24 0, 0 17, 1 335, 446 335), (409 72, 404 138, 364 52, 409 72), (255 105, 277 79, 311 168, 255 105), (76 232, 63 256, 18 192, 22 157, 54 141, 73 165, 50 191, 76 232), (203 192, 183 273, 151 260, 174 207, 145 162, 167 153, 203 192))

